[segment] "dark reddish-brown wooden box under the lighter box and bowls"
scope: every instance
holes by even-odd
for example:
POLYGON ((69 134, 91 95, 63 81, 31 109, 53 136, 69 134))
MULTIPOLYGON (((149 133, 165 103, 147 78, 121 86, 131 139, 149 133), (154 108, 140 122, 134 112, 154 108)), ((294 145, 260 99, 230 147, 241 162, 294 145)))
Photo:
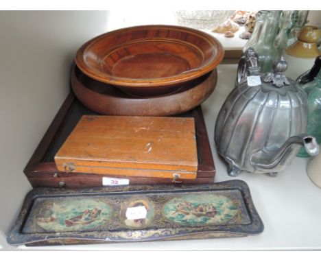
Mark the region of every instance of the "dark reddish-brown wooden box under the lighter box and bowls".
MULTIPOLYGON (((70 93, 24 169, 24 173, 32 184, 32 187, 86 188, 100 187, 103 185, 105 176, 99 174, 71 174, 66 171, 58 171, 53 159, 83 115, 98 114, 83 106, 78 99, 75 98, 73 93, 70 93)), ((180 117, 193 117, 195 119, 196 146, 198 149, 198 171, 196 178, 192 180, 180 178, 126 177, 126 179, 129 180, 129 184, 200 184, 214 182, 215 166, 202 108, 198 106, 180 115, 180 117)), ((124 177, 112 176, 112 178, 124 177)))

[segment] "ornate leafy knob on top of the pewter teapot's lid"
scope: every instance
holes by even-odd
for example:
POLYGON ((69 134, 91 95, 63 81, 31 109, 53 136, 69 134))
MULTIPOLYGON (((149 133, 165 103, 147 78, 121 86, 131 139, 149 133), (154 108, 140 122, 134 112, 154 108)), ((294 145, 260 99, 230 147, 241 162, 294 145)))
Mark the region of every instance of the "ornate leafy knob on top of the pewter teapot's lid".
POLYGON ((287 62, 284 60, 283 56, 274 62, 272 65, 274 73, 267 73, 265 78, 263 78, 263 82, 272 82, 276 87, 282 87, 284 85, 289 85, 289 80, 287 77, 283 75, 283 73, 287 70, 287 62))

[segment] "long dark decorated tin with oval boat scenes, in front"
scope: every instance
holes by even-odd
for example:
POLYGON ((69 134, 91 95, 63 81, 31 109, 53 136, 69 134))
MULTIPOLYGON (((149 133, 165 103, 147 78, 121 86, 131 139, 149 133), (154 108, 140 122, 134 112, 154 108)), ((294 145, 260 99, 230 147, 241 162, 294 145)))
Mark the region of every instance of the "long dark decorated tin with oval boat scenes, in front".
POLYGON ((43 246, 241 237, 263 223, 246 182, 33 189, 8 235, 43 246))

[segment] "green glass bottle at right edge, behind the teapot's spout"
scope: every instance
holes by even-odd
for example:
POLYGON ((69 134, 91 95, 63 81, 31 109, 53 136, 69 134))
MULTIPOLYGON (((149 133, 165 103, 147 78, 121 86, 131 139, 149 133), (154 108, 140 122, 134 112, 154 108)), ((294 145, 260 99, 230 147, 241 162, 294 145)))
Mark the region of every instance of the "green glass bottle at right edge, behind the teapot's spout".
MULTIPOLYGON (((309 107, 309 115, 307 119, 307 134, 315 136, 318 143, 321 143, 321 71, 316 78, 302 88, 307 93, 307 103, 309 107)), ((308 157, 309 154, 301 147, 297 156, 308 157)))

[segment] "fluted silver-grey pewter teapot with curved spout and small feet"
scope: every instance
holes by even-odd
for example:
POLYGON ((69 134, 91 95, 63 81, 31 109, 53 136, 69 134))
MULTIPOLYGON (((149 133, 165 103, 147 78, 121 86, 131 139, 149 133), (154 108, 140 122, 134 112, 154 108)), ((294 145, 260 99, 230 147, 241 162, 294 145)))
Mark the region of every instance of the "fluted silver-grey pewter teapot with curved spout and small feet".
POLYGON ((218 153, 228 162, 228 174, 240 171, 276 176, 298 153, 301 145, 316 155, 319 146, 307 128, 307 95, 283 72, 281 56, 274 73, 261 73, 252 48, 240 60, 237 86, 228 95, 215 124, 218 153))

